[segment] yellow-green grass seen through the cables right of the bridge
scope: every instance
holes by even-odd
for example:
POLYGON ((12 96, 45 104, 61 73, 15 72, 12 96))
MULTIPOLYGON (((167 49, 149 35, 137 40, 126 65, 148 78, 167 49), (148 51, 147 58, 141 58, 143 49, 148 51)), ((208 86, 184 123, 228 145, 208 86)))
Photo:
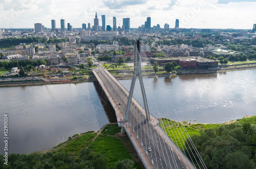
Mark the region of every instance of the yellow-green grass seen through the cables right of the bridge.
POLYGON ((167 118, 162 118, 162 123, 159 125, 166 134, 175 142, 175 144, 181 149, 185 149, 185 140, 188 137, 186 135, 186 131, 189 136, 192 135, 200 135, 202 131, 185 126, 184 128, 180 127, 181 124, 174 122, 173 120, 169 120, 167 118))

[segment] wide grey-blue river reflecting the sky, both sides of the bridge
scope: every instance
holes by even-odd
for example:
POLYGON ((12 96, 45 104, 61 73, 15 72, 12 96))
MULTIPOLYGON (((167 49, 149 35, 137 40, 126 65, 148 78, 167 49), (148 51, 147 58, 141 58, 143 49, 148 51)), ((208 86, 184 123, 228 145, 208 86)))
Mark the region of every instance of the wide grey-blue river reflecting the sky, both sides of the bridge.
MULTIPOLYGON (((147 96, 154 96, 157 104, 161 104, 159 86, 164 88, 181 120, 223 123, 256 115, 256 69, 159 78, 157 82, 148 79, 145 83, 152 91, 147 96)), ((0 88, 0 132, 3 136, 3 118, 8 114, 9 153, 49 150, 69 136, 98 131, 115 122, 113 110, 95 86, 88 82, 0 88)), ((161 113, 168 117, 168 112, 161 113)), ((0 154, 3 148, 1 142, 0 154)))

